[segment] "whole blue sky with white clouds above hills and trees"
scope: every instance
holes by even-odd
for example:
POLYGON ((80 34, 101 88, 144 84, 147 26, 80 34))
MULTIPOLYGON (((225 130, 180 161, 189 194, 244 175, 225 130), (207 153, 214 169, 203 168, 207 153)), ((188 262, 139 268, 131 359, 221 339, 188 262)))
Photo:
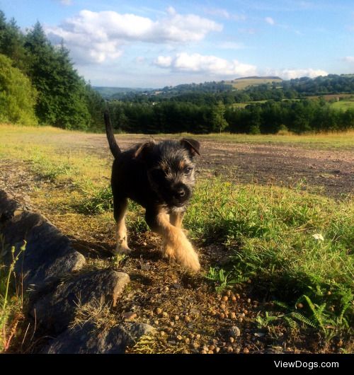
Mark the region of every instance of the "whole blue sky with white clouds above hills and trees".
POLYGON ((0 0, 39 21, 93 86, 354 72, 354 0, 0 0))

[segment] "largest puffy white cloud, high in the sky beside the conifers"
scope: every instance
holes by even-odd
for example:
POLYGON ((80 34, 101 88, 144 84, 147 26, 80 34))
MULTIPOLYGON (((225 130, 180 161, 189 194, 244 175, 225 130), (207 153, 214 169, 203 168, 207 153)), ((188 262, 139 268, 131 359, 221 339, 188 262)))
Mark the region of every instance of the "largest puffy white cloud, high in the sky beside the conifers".
POLYGON ((117 59, 123 45, 131 42, 188 43, 222 30, 219 23, 195 14, 178 14, 172 7, 166 13, 153 21, 135 14, 84 10, 62 25, 45 27, 45 31, 53 42, 64 40, 74 60, 84 64, 117 59))

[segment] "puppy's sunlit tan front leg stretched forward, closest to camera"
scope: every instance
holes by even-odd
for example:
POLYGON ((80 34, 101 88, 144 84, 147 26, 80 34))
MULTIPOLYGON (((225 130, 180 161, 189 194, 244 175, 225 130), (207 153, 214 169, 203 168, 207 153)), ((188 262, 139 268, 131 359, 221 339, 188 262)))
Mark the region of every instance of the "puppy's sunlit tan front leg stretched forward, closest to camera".
POLYGON ((184 267, 193 271, 200 270, 198 255, 192 244, 188 241, 181 228, 174 226, 169 221, 169 215, 163 210, 154 212, 147 210, 147 224, 159 233, 164 241, 164 251, 170 258, 174 258, 184 267))

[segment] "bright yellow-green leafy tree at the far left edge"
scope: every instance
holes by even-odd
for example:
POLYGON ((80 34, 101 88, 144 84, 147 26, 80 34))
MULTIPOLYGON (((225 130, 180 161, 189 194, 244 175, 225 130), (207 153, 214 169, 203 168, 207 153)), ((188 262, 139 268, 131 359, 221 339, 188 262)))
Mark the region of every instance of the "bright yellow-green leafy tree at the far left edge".
POLYGON ((11 59, 0 54, 0 122, 37 125, 36 91, 30 80, 12 64, 11 59))

